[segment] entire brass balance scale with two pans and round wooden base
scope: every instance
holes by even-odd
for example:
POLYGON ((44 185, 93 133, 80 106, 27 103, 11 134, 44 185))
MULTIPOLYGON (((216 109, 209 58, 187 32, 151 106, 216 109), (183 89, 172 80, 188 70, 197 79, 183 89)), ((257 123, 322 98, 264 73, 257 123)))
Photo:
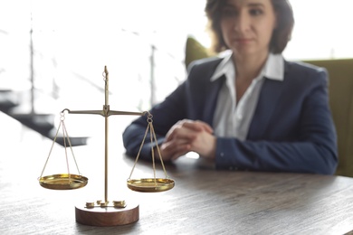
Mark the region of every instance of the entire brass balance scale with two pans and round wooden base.
POLYGON ((148 127, 145 132, 145 136, 142 139, 141 145, 139 147, 138 155, 135 160, 135 164, 131 169, 131 173, 127 180, 127 186, 130 190, 141 192, 141 193, 153 193, 153 192, 164 192, 170 190, 174 187, 174 180, 168 178, 166 168, 163 164, 162 157, 160 155, 159 147, 157 145, 157 137, 152 126, 152 115, 149 112, 126 112, 126 111, 114 111, 110 110, 109 105, 109 72, 107 70, 107 66, 104 67, 103 78, 105 81, 105 105, 103 105, 102 110, 70 110, 65 108, 61 112, 61 122, 57 129, 56 135, 52 141, 52 147, 50 149, 49 155, 46 159, 46 162, 43 167, 43 171, 41 176, 39 177, 39 183, 41 186, 47 189, 52 190, 72 190, 79 189, 88 183, 88 178, 81 175, 76 159, 73 155, 72 145, 70 141, 70 137, 67 133, 65 124, 64 124, 64 113, 68 112, 69 114, 94 114, 100 115, 105 118, 105 164, 104 164, 104 202, 98 200, 96 202, 86 202, 81 206, 75 207, 75 216, 76 221, 81 224, 92 225, 92 226, 115 226, 115 225, 124 225, 129 224, 139 219, 139 211, 138 204, 129 203, 125 201, 113 201, 109 202, 108 200, 108 118, 112 115, 136 115, 136 116, 145 116, 147 115, 148 127), (66 156, 66 164, 67 171, 66 174, 51 174, 44 175, 43 172, 45 170, 46 165, 48 164, 49 158, 52 154, 52 148, 54 146, 55 140, 58 136, 59 130, 62 127, 62 135, 63 135, 63 144, 65 148, 65 156, 66 156), (138 156, 140 150, 145 142, 146 136, 149 136, 150 141, 154 141, 156 143, 157 154, 160 158, 160 163, 163 166, 165 178, 157 178, 156 177, 156 167, 155 167, 155 155, 154 149, 151 149, 152 154, 152 164, 153 164, 153 178, 139 178, 139 179, 131 179, 131 175, 133 174, 134 168, 138 162, 138 156), (76 164, 77 171, 79 174, 70 174, 69 163, 68 163, 68 155, 67 148, 70 146, 72 157, 74 163, 76 164))

